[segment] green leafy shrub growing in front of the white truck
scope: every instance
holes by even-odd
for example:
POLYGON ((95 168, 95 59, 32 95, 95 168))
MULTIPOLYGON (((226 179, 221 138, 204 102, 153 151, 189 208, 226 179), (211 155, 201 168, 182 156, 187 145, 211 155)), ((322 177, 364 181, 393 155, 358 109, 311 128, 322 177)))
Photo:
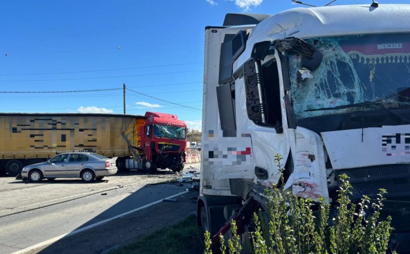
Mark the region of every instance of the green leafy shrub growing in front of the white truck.
MULTIPOLYGON (((282 169, 282 157, 275 155, 275 163, 282 169)), ((372 202, 363 196, 353 203, 352 185, 348 176, 339 176, 338 205, 331 216, 331 206, 324 198, 313 200, 297 197, 290 191, 273 186, 265 190, 268 199, 267 211, 259 210, 253 215, 253 232, 250 233, 254 254, 381 254, 388 250, 392 233, 391 217, 380 221, 383 195, 379 189, 377 199, 372 202), (315 209, 314 209, 315 207, 315 209)), ((283 174, 280 178, 284 186, 283 174)), ((204 254, 212 254, 210 234, 204 234, 204 254)), ((220 251, 225 254, 241 253, 240 236, 234 220, 231 221, 231 237, 228 249, 222 235, 220 251)), ((392 251, 391 253, 396 253, 392 251)))

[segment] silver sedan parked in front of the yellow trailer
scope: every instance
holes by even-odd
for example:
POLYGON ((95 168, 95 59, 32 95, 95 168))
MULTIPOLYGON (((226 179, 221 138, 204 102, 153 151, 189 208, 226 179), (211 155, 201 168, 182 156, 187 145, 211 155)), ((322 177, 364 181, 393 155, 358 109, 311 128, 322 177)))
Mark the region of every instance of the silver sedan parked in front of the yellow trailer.
POLYGON ((22 170, 23 180, 38 182, 47 178, 80 177, 85 182, 100 180, 104 176, 117 173, 115 158, 107 158, 96 153, 61 153, 45 161, 28 165, 22 170))

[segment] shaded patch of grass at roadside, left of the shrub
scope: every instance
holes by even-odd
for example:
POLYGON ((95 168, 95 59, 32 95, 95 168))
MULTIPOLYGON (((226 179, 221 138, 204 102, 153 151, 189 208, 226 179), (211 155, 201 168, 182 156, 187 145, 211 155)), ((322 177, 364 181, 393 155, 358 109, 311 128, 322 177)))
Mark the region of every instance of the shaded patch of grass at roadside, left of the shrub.
POLYGON ((109 254, 202 254, 203 248, 202 232, 196 224, 196 216, 192 214, 109 254))

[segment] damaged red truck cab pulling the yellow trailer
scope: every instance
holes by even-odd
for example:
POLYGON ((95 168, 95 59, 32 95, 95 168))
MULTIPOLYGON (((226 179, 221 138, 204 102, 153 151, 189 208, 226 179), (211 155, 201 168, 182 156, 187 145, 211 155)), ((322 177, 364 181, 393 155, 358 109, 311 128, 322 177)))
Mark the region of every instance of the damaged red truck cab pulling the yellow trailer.
POLYGON ((187 124, 175 114, 146 112, 141 126, 142 169, 153 173, 157 168, 179 172, 187 154, 187 124))

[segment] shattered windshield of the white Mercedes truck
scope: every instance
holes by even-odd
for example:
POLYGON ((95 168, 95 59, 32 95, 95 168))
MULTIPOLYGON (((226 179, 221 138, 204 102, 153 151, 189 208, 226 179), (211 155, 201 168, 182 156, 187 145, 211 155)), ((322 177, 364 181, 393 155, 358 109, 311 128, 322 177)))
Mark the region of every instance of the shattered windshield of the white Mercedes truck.
POLYGON ((410 105, 409 34, 373 34, 306 39, 323 54, 315 71, 289 55, 291 97, 296 119, 357 110, 410 105), (342 107, 343 105, 361 107, 342 107), (339 106, 339 107, 338 107, 339 106), (338 107, 334 110, 329 108, 338 107), (327 108, 327 110, 321 110, 327 108), (316 109, 316 110, 315 110, 316 109))

